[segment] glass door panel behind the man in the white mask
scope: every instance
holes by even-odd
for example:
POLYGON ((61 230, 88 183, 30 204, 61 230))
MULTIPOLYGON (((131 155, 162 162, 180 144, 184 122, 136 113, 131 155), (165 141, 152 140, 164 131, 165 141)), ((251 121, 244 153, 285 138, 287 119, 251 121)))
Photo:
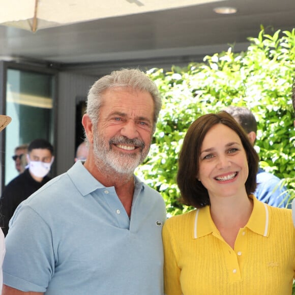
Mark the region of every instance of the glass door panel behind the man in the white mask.
POLYGON ((6 128, 4 185, 18 175, 12 159, 16 146, 36 138, 45 138, 54 146, 54 81, 52 73, 6 69, 5 113, 12 122, 6 128))

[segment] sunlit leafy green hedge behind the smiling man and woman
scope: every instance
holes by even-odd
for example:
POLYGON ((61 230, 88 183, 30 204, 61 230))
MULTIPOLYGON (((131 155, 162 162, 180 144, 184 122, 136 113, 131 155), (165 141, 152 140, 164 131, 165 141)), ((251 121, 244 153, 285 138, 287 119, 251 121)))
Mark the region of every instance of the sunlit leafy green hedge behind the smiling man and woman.
POLYGON ((163 108, 150 154, 136 173, 162 194, 170 215, 190 210, 178 202, 175 183, 178 155, 188 127, 199 115, 229 105, 245 106, 255 114, 260 165, 284 179, 294 197, 291 84, 295 77, 295 30, 277 31, 273 36, 262 30, 249 41, 245 52, 233 53, 230 47, 185 69, 147 71, 161 91, 163 108))

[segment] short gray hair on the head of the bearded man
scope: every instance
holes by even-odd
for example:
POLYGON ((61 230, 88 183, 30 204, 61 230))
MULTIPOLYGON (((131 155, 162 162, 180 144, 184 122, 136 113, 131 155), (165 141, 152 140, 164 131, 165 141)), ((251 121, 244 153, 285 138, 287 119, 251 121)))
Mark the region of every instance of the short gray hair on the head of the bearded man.
POLYGON ((126 87, 132 90, 149 92, 151 94, 154 101, 153 132, 155 132, 159 112, 162 107, 162 98, 155 82, 138 69, 113 71, 109 75, 103 76, 92 85, 87 96, 86 113, 90 117, 93 125, 97 126, 98 123, 103 93, 115 87, 126 87))

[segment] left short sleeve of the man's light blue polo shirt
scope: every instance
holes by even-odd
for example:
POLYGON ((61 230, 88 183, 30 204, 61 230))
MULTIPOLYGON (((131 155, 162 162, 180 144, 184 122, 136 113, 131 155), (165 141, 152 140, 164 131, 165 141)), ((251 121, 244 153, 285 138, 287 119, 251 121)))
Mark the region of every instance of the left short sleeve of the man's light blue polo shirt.
POLYGON ((14 214, 6 237, 4 284, 24 292, 45 292, 53 273, 50 228, 30 206, 23 205, 14 214))

